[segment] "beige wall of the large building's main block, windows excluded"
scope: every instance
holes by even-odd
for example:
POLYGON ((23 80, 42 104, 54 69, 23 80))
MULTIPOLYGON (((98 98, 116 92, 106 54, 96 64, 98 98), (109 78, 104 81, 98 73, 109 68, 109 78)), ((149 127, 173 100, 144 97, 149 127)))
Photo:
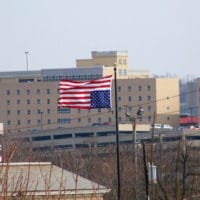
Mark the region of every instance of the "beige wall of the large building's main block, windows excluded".
MULTIPOLYGON (((112 68, 109 70, 112 71, 112 68)), ((152 124, 154 112, 156 111, 157 122, 173 126, 177 123, 176 125, 178 126, 178 80, 165 78, 159 80, 154 78, 120 79, 117 85, 120 123, 127 122, 126 107, 128 112, 135 116, 138 108, 142 106, 144 114, 142 120, 137 120, 138 124, 152 124), (139 87, 141 90, 139 90, 139 87), (150 90, 148 90, 148 87, 150 90), (172 98, 173 96, 176 97, 172 98), (141 101, 139 97, 141 97, 141 101), (170 97, 170 99, 167 99, 167 97, 170 97)), ((80 127, 93 123, 115 122, 115 114, 111 112, 115 110, 114 82, 112 84, 112 109, 71 109, 69 113, 58 113, 58 82, 18 83, 17 79, 1 79, 0 95, 0 122, 4 123, 5 131, 40 129, 39 120, 42 120, 43 129, 60 126, 80 127), (40 94, 37 94, 38 89, 40 94), (50 94, 47 94, 48 89, 50 94), (10 92, 9 95, 7 95, 7 90, 10 92), (17 94, 17 90, 20 90, 20 95, 17 94), (30 91, 30 94, 27 94, 27 90, 30 91), (27 104, 27 100, 30 101, 30 104, 27 104), (39 104, 38 100, 40 101, 39 104), (50 100, 49 104, 48 100, 50 100), (38 110, 42 114, 38 113, 38 110), (20 111, 20 114, 18 111, 20 111), (28 114, 28 112, 30 113, 28 114), (61 125, 58 123, 59 118, 70 119, 71 122, 61 125), (18 124, 19 120, 20 124, 18 124), (8 121, 11 122, 10 125, 8 125, 8 121)))

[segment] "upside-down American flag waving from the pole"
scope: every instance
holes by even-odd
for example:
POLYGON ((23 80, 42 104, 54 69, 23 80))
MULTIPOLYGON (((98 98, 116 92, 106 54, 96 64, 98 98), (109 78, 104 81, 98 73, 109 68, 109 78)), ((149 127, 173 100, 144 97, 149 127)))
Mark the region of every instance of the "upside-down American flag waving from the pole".
POLYGON ((112 76, 84 82, 60 80, 58 107, 111 108, 111 84, 112 76))

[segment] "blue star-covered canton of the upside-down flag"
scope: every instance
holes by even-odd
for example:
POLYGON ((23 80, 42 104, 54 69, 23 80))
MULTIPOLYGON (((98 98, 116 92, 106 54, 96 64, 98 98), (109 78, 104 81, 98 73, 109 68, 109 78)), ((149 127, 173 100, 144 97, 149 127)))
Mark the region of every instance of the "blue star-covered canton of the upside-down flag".
POLYGON ((110 90, 92 91, 90 93, 92 108, 110 108, 110 90))

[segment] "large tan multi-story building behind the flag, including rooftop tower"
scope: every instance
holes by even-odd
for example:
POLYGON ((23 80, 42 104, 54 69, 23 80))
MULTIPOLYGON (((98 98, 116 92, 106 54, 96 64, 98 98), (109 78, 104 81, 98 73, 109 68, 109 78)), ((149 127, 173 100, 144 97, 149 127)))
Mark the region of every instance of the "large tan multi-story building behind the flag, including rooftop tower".
POLYGON ((8 132, 115 123, 114 84, 111 109, 57 108, 61 78, 96 79, 113 74, 114 66, 117 68, 119 123, 130 123, 125 113, 135 116, 138 107, 142 107, 144 115, 137 123, 178 126, 178 80, 150 78, 147 71, 130 72, 127 52, 116 51, 92 52, 92 59, 77 60, 77 68, 1 72, 0 122, 8 132))

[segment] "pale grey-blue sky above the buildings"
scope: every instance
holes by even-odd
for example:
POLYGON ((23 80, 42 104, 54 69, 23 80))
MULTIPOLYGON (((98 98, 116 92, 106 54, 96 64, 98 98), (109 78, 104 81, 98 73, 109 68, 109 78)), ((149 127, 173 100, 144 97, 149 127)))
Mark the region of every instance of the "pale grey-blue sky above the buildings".
POLYGON ((0 71, 75 67, 128 51, 129 68, 200 77, 200 0, 0 0, 0 71))

